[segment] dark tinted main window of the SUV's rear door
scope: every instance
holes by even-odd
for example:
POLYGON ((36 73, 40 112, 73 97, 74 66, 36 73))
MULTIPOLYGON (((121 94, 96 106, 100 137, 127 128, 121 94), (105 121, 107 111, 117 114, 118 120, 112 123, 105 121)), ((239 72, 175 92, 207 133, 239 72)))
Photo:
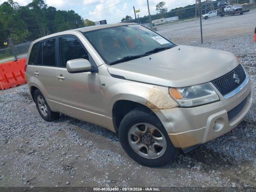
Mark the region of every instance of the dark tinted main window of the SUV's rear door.
POLYGON ((55 39, 51 39, 43 42, 43 65, 56 66, 55 39))

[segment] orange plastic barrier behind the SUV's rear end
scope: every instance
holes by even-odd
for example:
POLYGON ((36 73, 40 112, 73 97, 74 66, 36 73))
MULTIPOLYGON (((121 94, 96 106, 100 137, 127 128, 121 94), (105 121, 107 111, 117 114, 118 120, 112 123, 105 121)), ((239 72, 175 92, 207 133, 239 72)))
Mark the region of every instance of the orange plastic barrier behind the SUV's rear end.
POLYGON ((26 58, 0 64, 0 90, 26 83, 25 64, 26 58))

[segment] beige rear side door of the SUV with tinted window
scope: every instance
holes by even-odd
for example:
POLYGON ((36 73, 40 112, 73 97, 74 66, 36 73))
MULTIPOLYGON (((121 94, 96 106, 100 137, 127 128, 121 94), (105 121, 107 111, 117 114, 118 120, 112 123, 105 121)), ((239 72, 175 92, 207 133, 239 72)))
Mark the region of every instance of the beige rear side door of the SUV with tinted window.
MULTIPOLYGON (((42 92, 46 100, 56 100, 56 38, 37 43, 36 60, 28 67, 30 82, 42 92)), ((50 106, 50 103, 48 103, 50 106)))

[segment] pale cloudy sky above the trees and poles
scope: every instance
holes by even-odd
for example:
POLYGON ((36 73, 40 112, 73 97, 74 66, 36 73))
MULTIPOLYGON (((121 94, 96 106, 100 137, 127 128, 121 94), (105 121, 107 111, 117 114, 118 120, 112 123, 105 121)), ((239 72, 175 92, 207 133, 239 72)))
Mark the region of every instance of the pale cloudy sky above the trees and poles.
MULTIPOLYGON (((5 0, 0 0, 2 4, 5 0)), ((32 0, 14 0, 20 6, 25 6, 32 0)), ((156 14, 156 4, 166 2, 168 10, 194 4, 196 0, 148 0, 150 14, 156 14)), ((57 10, 74 10, 82 18, 92 21, 107 20, 107 23, 120 22, 126 15, 134 18, 133 6, 140 17, 148 15, 147 0, 44 0, 48 6, 54 6, 57 10)))

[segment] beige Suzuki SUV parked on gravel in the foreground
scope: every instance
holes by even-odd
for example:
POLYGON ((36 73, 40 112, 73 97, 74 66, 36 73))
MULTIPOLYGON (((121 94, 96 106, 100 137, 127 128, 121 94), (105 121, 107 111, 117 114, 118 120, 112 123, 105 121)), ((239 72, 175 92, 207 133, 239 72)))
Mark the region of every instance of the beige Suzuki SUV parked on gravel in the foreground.
POLYGON ((176 45, 131 23, 31 43, 26 78, 40 116, 66 114, 118 133, 140 164, 160 166, 237 126, 252 105, 248 73, 226 51, 176 45))

